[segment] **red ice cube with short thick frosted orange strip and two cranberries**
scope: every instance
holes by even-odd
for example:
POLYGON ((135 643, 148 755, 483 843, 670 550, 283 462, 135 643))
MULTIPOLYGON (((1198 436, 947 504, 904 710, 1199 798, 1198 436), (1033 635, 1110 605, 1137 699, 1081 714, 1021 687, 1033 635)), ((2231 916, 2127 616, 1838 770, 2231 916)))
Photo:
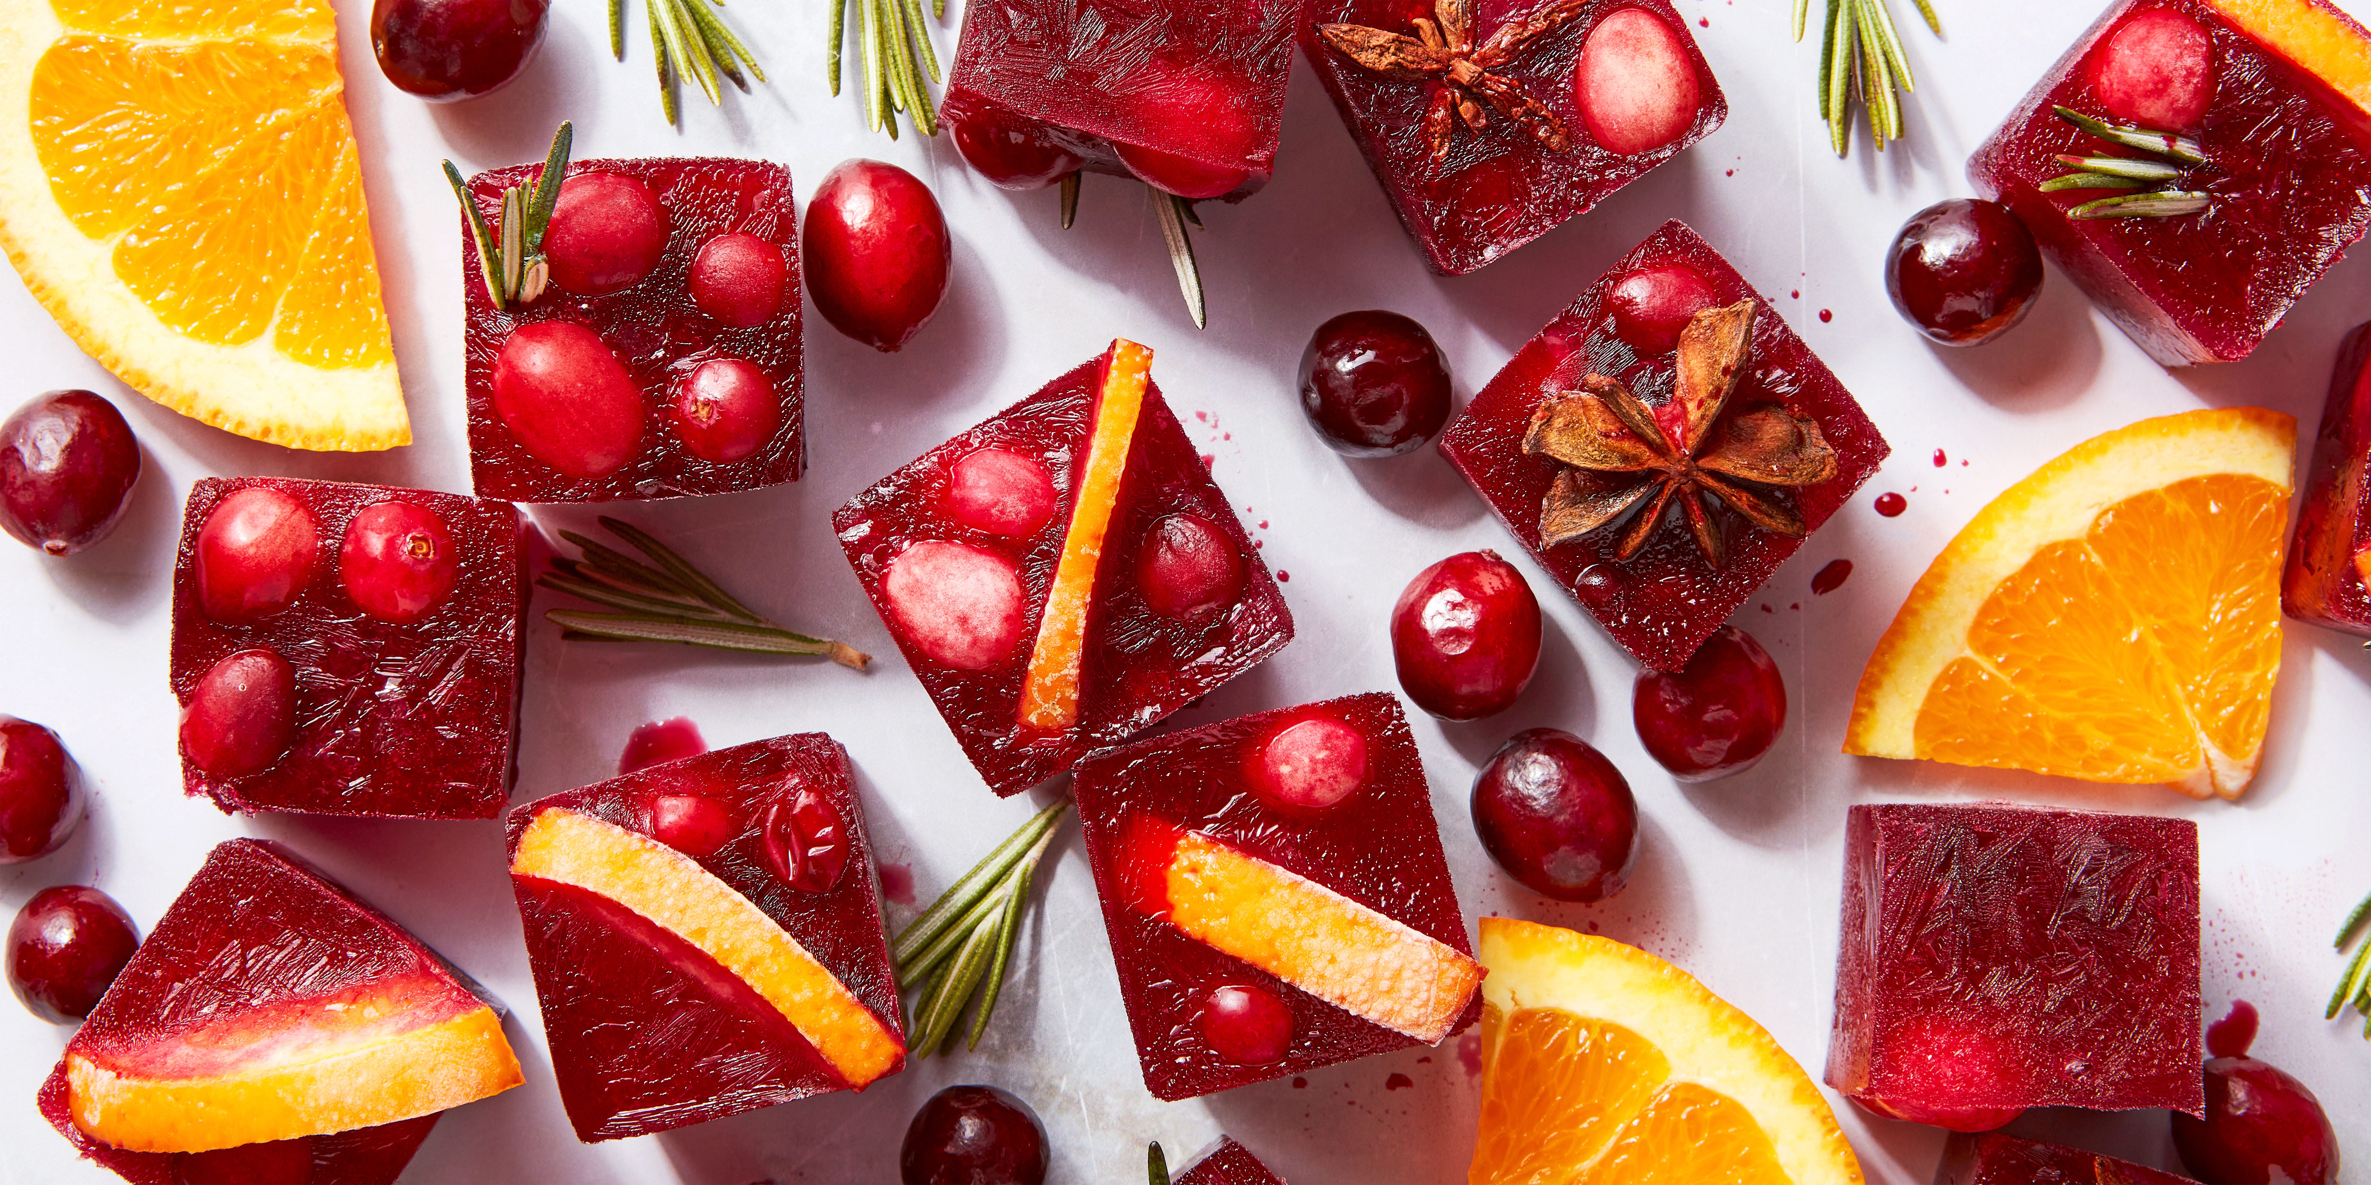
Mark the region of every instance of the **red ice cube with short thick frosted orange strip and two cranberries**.
POLYGON ((1482 1014, 1394 697, 1105 749, 1079 763, 1074 792, 1157 1097, 1439 1043, 1482 1014))

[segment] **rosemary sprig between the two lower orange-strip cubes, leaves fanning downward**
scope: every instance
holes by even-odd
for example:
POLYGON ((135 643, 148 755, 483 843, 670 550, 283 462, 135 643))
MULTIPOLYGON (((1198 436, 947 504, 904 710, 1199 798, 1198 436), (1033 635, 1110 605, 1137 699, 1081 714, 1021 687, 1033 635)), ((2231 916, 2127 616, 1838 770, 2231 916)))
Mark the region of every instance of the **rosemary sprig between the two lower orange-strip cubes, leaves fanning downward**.
POLYGON ((1069 799, 1038 811, 939 893, 939 901, 932 901, 891 943, 899 988, 922 988, 908 1033, 915 1057, 929 1057, 941 1045, 956 1052, 948 1036, 974 993, 979 1010, 972 1014, 965 1048, 979 1048, 979 1033, 989 1029, 1005 967, 1012 962, 1012 943, 1022 931, 1022 908, 1036 882, 1038 860, 1046 858, 1067 811, 1069 799))

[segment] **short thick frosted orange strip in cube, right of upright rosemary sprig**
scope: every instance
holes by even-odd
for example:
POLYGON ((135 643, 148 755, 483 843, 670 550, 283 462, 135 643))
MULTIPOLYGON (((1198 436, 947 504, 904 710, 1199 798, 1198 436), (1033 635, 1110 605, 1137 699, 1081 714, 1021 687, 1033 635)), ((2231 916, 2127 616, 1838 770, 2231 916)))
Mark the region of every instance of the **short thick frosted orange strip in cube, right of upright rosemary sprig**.
POLYGON ((1449 1036, 1482 979, 1453 946, 1195 832, 1164 884, 1190 939, 1415 1040, 1449 1036))

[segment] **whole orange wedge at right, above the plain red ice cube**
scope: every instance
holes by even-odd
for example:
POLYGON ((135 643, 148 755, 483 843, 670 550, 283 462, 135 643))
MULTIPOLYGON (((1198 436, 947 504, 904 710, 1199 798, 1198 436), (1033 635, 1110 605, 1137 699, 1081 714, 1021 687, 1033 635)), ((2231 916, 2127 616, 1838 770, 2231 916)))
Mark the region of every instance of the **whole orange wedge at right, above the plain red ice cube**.
POLYGON ((1911 590, 1845 751, 2236 799, 2281 671, 2297 422, 2141 419, 1992 500, 1911 590))

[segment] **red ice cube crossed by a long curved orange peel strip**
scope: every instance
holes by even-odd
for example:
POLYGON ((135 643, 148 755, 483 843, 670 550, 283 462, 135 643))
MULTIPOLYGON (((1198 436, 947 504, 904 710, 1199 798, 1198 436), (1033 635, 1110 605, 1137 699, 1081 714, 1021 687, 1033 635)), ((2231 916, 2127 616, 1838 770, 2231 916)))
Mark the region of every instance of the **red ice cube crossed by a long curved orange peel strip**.
POLYGON ((519 806, 510 877, 586 1142, 863 1090, 906 1064, 863 806, 820 732, 519 806))

